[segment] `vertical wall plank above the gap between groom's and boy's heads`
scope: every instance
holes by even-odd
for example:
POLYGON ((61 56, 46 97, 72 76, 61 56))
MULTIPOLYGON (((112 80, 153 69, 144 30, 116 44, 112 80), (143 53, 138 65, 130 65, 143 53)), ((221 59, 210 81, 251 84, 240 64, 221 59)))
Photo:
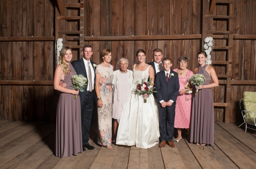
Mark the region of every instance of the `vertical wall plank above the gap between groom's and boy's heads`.
MULTIPOLYGON (((159 0, 158 1, 158 35, 169 35, 169 13, 170 11, 170 1, 169 0, 159 0)), ((169 41, 168 40, 158 40, 157 42, 158 48, 162 49, 165 57, 169 57, 169 41)))

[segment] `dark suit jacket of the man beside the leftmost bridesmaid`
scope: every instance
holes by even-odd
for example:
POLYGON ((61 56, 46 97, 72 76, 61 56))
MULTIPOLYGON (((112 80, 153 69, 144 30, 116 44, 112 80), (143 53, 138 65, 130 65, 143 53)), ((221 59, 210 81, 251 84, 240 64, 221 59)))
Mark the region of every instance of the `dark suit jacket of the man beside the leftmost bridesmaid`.
MULTIPOLYGON (((91 60, 90 60, 90 63, 92 64, 92 66, 95 64, 91 60)), ((88 79, 83 58, 81 58, 79 60, 76 60, 76 61, 73 61, 71 64, 74 67, 77 75, 82 74, 82 75, 84 75, 88 79)), ((94 68, 94 66, 93 66, 93 68, 94 68)), ((95 75, 95 68, 94 68, 94 82, 95 82, 95 80, 96 80, 96 75, 95 75)), ((93 86, 94 86, 94 84, 93 84, 93 86)), ((81 103, 83 103, 83 100, 84 100, 83 98, 86 95, 87 88, 88 88, 88 81, 86 82, 86 86, 84 88, 84 92, 79 92, 81 103)), ((95 90, 93 90, 93 92, 94 92, 94 99, 96 101, 95 90)))

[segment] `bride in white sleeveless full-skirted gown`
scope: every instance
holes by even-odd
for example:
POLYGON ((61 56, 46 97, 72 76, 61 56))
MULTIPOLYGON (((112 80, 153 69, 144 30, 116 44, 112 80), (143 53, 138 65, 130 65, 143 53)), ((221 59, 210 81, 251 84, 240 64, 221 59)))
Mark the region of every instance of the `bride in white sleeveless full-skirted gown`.
MULTIPOLYGON (((138 50, 136 57, 139 64, 132 67, 134 80, 131 89, 136 88, 136 81, 147 81, 148 77, 154 81, 155 77, 153 67, 144 63, 146 52, 138 50)), ((153 94, 149 95, 144 103, 143 96, 132 91, 121 113, 116 144, 148 149, 159 143, 159 137, 158 108, 153 94)))

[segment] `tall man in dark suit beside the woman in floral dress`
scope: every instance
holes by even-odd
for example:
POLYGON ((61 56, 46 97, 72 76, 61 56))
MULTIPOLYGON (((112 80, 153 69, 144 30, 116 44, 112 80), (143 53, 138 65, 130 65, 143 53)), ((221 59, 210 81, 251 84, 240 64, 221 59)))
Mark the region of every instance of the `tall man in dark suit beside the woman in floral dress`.
POLYGON ((90 61, 93 55, 92 46, 83 46, 83 58, 73 61, 71 64, 74 67, 77 75, 82 74, 87 78, 84 92, 79 92, 81 101, 81 122, 82 122, 82 142, 83 150, 94 150, 94 147, 88 143, 89 132, 93 114, 94 100, 96 100, 96 94, 94 90, 95 82, 95 67, 96 64, 90 61))

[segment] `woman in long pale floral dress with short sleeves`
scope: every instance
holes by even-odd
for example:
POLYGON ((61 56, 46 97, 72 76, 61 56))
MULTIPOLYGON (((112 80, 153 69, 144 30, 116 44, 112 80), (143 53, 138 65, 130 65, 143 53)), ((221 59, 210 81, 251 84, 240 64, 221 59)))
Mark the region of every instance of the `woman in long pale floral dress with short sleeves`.
POLYGON ((112 149, 112 96, 113 67, 112 53, 109 49, 101 51, 102 63, 96 67, 95 92, 98 100, 98 144, 112 149))

